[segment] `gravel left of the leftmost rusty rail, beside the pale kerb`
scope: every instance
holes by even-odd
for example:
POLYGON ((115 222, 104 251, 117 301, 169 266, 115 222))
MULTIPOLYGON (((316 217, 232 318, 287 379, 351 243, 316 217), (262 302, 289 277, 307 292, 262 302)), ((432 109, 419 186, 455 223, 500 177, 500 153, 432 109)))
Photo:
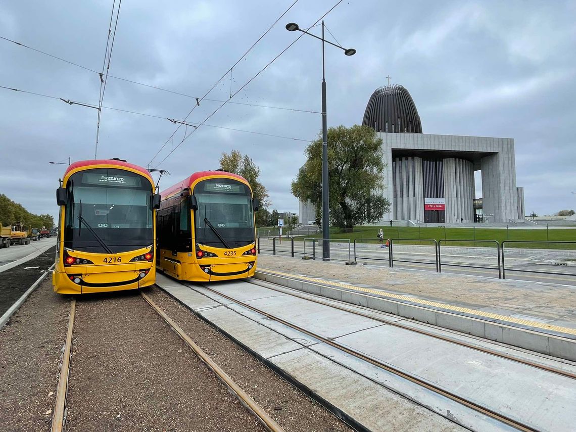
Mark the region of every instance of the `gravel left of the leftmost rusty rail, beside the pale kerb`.
POLYGON ((0 330, 0 431, 50 428, 69 313, 47 278, 0 330))

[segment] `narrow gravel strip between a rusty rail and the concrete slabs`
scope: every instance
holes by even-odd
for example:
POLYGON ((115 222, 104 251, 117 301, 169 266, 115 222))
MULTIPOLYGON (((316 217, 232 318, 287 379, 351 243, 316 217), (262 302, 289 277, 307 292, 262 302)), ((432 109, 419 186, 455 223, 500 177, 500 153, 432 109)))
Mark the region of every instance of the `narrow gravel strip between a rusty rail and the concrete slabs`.
POLYGON ((286 431, 351 430, 164 291, 153 287, 146 293, 286 431))

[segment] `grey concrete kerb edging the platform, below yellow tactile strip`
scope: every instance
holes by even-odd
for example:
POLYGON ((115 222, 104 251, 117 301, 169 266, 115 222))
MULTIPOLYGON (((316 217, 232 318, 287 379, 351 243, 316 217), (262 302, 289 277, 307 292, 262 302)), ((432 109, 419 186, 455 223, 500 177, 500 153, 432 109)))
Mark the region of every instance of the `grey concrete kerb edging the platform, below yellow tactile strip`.
POLYGON ((514 327, 513 325, 499 323, 498 321, 487 321, 482 319, 482 317, 476 318, 463 314, 425 308, 402 301, 391 300, 380 295, 355 293, 351 290, 272 275, 259 270, 256 270, 254 278, 353 305, 365 306, 370 309, 380 310, 381 312, 392 313, 397 316, 420 321, 421 323, 437 325, 438 327, 478 336, 479 338, 525 348, 530 351, 535 351, 536 353, 576 361, 576 340, 563 338, 562 336, 532 331, 527 328, 514 327))

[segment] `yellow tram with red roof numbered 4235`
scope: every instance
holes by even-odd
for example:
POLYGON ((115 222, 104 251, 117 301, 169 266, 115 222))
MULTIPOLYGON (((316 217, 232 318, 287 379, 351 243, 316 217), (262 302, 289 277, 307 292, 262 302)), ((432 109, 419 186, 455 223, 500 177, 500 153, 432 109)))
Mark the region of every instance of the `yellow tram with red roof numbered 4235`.
POLYGON ((183 281, 254 275, 259 204, 244 177, 223 170, 198 172, 161 197, 157 268, 183 281))

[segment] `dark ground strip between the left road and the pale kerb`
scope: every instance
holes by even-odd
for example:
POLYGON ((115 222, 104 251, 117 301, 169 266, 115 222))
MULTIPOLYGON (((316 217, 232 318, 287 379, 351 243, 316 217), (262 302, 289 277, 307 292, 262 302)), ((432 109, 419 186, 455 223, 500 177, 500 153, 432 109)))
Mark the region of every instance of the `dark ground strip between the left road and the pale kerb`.
MULTIPOLYGON (((42 255, 0 273, 0 316, 41 276, 40 270, 47 270, 54 264, 55 250, 56 247, 52 247, 42 255), (25 270, 25 267, 36 266, 40 268, 25 270)), ((50 276, 47 279, 50 280, 50 276)))

